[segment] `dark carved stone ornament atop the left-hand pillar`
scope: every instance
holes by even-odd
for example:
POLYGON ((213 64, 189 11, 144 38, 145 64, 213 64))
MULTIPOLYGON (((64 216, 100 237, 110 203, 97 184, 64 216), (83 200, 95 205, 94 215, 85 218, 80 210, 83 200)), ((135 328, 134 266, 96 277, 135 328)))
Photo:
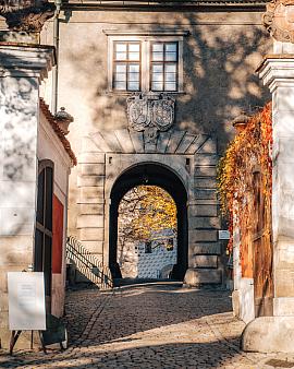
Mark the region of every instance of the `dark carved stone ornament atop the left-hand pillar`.
POLYGON ((44 23, 53 16, 54 9, 47 0, 0 1, 0 15, 12 31, 40 32, 44 23))

